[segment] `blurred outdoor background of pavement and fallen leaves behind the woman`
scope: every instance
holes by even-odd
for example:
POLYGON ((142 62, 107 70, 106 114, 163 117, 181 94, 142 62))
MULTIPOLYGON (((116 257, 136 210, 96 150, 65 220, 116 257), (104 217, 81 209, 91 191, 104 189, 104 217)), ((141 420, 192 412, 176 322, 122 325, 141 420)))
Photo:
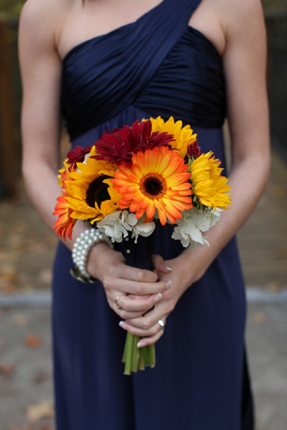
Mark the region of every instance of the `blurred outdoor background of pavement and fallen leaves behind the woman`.
MULTIPOLYGON (((28 201, 20 172, 17 29, 23 3, 0 0, 0 430, 52 430, 50 284, 57 240, 28 201)), ((238 243, 249 303, 256 430, 286 430, 287 0, 262 3, 272 167, 238 243)))

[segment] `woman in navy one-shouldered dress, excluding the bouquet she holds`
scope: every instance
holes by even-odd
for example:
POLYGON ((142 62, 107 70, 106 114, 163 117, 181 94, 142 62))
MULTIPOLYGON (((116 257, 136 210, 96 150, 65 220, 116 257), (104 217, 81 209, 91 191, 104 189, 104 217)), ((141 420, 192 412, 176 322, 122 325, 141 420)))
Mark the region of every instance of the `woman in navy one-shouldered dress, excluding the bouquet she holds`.
POLYGON ((70 251, 84 225, 77 223, 73 240, 59 245, 53 285, 58 430, 251 429, 234 234, 269 170, 260 0, 27 0, 19 50, 23 176, 51 228, 61 109, 72 145, 93 144, 105 130, 135 119, 173 115, 198 133, 203 151, 224 160, 226 112, 232 138, 233 205, 210 230, 210 247, 183 251, 169 227, 158 228, 152 272, 126 266, 121 252, 99 242, 87 271, 101 283, 85 286, 69 274, 70 251), (123 375, 126 330, 144 337, 139 347, 156 343, 154 369, 123 375))

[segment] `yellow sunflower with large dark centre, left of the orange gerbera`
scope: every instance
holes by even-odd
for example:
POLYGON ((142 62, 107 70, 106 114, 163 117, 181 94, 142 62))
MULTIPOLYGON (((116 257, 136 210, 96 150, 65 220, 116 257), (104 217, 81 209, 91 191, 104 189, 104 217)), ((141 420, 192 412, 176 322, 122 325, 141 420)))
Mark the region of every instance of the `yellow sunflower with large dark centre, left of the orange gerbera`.
POLYGON ((117 166, 106 161, 87 158, 77 163, 77 171, 66 181, 67 201, 71 217, 89 220, 92 224, 118 208, 122 197, 113 189, 111 179, 117 166))

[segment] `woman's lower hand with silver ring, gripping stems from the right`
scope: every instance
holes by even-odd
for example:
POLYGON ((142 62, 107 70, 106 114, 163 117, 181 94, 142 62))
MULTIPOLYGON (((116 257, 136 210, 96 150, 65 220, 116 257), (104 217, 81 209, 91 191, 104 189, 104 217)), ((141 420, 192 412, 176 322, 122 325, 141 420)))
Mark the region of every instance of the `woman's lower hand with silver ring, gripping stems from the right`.
POLYGON ((143 337, 138 347, 152 345, 164 332, 166 319, 174 310, 179 298, 188 288, 184 283, 184 270, 181 270, 179 258, 164 261, 161 256, 154 256, 154 267, 160 281, 169 281, 170 288, 162 293, 162 299, 144 316, 120 322, 120 326, 130 333, 143 337))

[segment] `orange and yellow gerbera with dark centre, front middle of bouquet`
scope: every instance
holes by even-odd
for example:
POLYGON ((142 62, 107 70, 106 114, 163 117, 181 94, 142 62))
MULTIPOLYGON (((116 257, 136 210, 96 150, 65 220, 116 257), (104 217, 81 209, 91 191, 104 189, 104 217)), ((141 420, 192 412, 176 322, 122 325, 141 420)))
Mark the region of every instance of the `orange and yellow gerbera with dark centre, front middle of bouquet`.
POLYGON ((176 151, 166 146, 137 152, 132 165, 119 166, 112 179, 113 187, 123 195, 119 208, 129 208, 136 218, 145 213, 152 220, 157 209, 160 223, 176 223, 181 211, 192 206, 188 166, 176 151))

